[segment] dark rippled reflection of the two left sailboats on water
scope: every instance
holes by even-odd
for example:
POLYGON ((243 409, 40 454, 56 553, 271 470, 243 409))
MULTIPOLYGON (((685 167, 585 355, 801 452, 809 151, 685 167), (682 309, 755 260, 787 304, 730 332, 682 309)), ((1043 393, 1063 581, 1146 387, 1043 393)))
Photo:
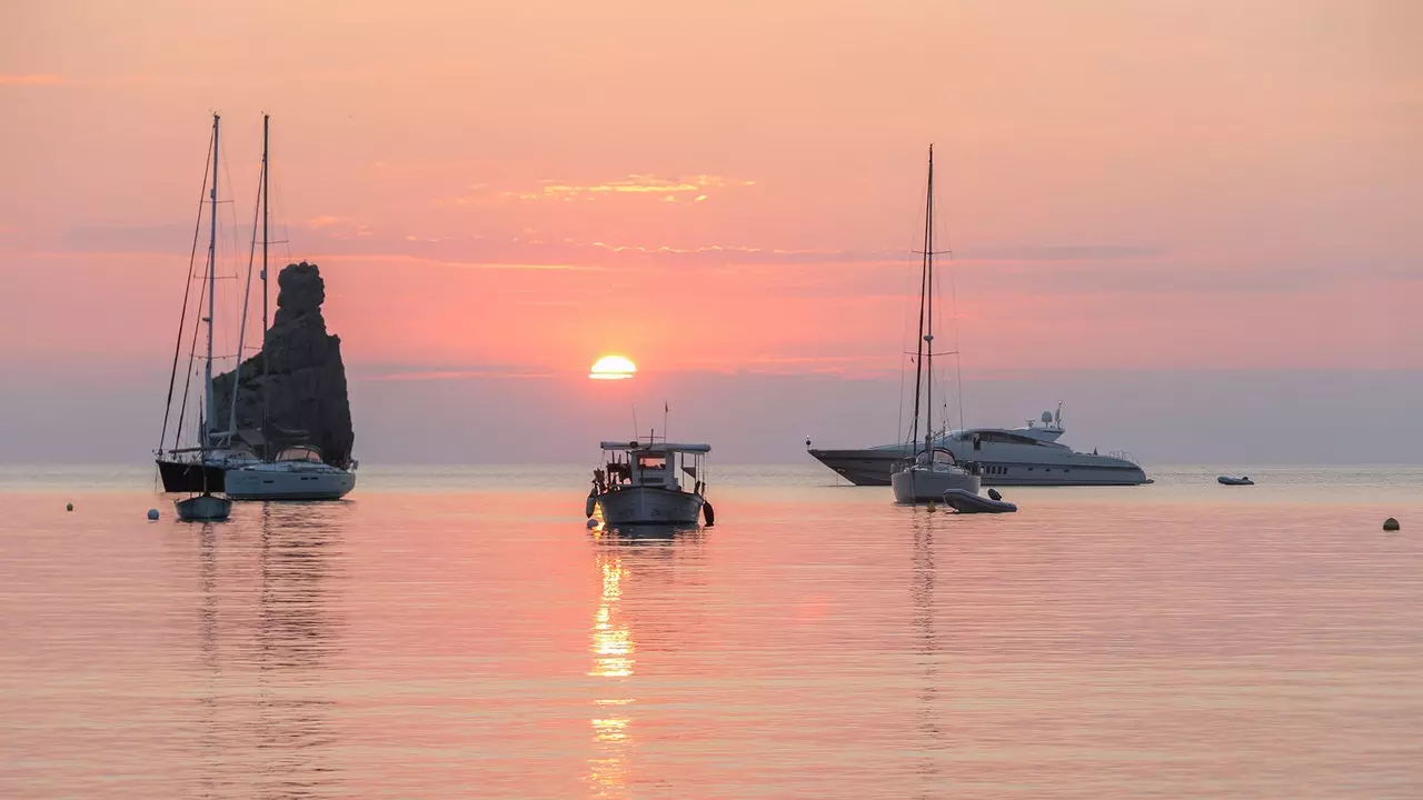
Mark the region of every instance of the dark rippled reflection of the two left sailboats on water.
POLYGON ((344 626, 332 611, 344 514, 250 510, 198 540, 201 793, 342 794, 330 669, 344 626))

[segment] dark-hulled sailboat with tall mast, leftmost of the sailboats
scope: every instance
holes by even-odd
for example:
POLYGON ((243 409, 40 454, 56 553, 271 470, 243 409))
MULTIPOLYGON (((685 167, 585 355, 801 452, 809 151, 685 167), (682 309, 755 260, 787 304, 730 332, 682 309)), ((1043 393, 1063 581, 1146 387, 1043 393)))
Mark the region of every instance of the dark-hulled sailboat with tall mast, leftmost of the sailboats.
MULTIPOLYGON (((235 437, 233 431, 216 431, 213 430, 212 420, 215 419, 213 409, 213 391, 212 391, 212 329, 216 312, 216 289, 218 289, 218 157, 219 148, 219 134, 221 134, 222 118, 218 114, 212 115, 212 184, 209 186, 208 181, 203 179, 203 189, 208 195, 209 204, 209 228, 208 228, 208 262, 205 268, 203 280, 201 283, 202 292, 198 296, 198 307, 202 307, 203 300, 208 303, 206 316, 201 317, 198 322, 206 327, 206 343, 208 350, 203 356, 203 384, 202 384, 202 409, 198 416, 198 444, 192 447, 179 447, 179 437, 182 436, 184 416, 188 411, 186 400, 186 386, 184 387, 184 400, 179 406, 178 421, 174 427, 174 443, 168 450, 164 450, 164 440, 168 437, 168 420, 172 413, 172 396, 174 387, 178 380, 178 362, 182 353, 182 340, 186 333, 188 322, 188 293, 192 290, 192 262, 188 265, 188 290, 184 292, 184 310, 178 322, 178 344, 174 347, 174 366, 172 373, 168 377, 168 407, 164 409, 164 427, 162 433, 158 436, 158 450, 154 451, 154 458, 158 464, 158 474, 162 478, 164 491, 169 493, 189 493, 189 494, 208 494, 211 491, 223 491, 225 473, 240 464, 253 464, 258 461, 256 454, 245 444, 240 438, 235 437)), ((199 209, 199 223, 201 223, 201 209, 199 209)), ((189 366, 195 359, 198 359, 196 350, 196 330, 194 332, 192 349, 188 354, 189 366)), ((238 359, 240 362, 240 357, 238 359)), ((191 374, 191 372, 189 372, 191 374)))

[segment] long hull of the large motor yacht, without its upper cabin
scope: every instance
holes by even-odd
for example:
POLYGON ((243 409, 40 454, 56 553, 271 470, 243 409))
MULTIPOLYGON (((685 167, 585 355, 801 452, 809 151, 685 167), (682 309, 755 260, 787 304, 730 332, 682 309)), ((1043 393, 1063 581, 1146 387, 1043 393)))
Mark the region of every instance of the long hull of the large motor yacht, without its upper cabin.
MULTIPOLYGON (((889 485, 889 477, 908 450, 811 450, 810 454, 855 485, 889 485)), ((983 485, 1140 485, 1150 483, 1141 467, 1124 458, 1074 453, 1057 460, 1016 460, 958 453, 961 461, 983 467, 983 485)))

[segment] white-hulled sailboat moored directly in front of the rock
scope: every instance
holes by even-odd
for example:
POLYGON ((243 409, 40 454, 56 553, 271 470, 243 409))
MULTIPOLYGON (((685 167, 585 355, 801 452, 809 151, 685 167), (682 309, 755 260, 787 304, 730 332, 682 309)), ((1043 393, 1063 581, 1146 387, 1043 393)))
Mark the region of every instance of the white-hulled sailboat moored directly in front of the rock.
MULTIPOLYGON (((268 188, 270 184, 270 115, 262 117, 262 335, 263 349, 268 333, 268 245, 270 236, 268 226, 272 218, 268 204, 268 188)), ((250 278, 250 272, 249 272, 250 278)), ((245 315, 243 315, 245 316, 245 315)), ((240 359, 239 359, 240 360, 240 359)), ((268 448, 268 391, 272 384, 268 377, 270 359, 262 359, 262 448, 263 458, 232 463, 223 475, 223 488, 233 500, 340 500, 356 488, 356 473, 333 467, 322 460, 320 451, 309 444, 299 444, 282 448, 276 457, 270 457, 268 448)), ((239 364, 240 369, 240 364, 239 364)), ((239 391, 238 376, 232 381, 232 427, 236 428, 236 403, 239 391)))

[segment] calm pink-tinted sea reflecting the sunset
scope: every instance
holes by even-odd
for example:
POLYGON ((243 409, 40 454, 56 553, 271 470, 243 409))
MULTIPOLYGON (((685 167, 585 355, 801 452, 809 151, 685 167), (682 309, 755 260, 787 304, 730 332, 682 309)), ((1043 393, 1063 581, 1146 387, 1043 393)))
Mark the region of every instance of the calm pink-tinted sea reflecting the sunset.
POLYGON ((0 467, 0 797, 1423 797, 1423 470, 1244 471, 956 517, 723 467, 625 537, 579 467, 216 525, 0 467))

